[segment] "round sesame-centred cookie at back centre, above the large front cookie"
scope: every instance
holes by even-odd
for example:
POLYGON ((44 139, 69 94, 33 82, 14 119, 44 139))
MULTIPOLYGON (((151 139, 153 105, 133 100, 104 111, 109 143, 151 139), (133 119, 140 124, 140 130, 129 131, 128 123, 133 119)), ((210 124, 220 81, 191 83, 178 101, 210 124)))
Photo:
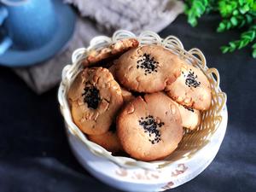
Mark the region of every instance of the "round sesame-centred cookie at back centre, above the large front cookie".
POLYGON ((127 90, 152 93, 177 79, 181 62, 161 46, 146 45, 121 55, 115 62, 115 76, 127 90))

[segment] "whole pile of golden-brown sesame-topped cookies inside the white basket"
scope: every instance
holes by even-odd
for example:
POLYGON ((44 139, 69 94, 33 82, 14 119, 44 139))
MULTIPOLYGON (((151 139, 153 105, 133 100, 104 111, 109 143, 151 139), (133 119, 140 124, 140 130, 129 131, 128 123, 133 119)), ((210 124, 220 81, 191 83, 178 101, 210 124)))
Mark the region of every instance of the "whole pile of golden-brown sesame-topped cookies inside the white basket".
POLYGON ((162 160, 211 105, 205 74, 159 45, 123 39, 91 50, 83 65, 68 91, 73 121, 113 154, 162 160))

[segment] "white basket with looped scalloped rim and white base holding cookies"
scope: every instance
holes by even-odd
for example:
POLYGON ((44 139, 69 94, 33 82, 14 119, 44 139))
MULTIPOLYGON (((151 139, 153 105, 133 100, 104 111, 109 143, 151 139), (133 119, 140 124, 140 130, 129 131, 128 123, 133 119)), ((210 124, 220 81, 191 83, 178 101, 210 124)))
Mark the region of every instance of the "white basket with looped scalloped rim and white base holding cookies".
POLYGON ((225 105, 226 96, 218 86, 218 71, 207 67, 206 59, 199 49, 186 51, 183 49, 183 44, 173 36, 162 39, 156 33, 147 31, 136 37, 133 33, 122 30, 115 32, 112 38, 105 36, 93 38, 87 49, 75 50, 72 59, 73 64, 63 69, 58 99, 73 153, 93 176, 113 187, 127 191, 163 191, 188 182, 212 162, 224 139, 228 113, 225 105), (211 80, 213 107, 203 113, 204 122, 198 130, 188 131, 183 144, 166 160, 143 162, 115 157, 101 146, 87 140, 73 123, 67 103, 67 90, 82 68, 81 61, 86 57, 88 50, 102 49, 122 38, 137 38, 140 44, 159 44, 188 61, 192 59, 196 61, 196 67, 201 68, 211 80), (197 141, 197 138, 200 141, 197 141))

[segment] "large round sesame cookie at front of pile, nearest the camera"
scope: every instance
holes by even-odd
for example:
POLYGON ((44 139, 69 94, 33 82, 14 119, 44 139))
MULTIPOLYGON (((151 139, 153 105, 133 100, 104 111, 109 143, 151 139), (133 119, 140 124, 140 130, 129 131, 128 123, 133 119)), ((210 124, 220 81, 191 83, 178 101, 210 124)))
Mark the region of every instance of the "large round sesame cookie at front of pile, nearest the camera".
POLYGON ((119 113, 117 133, 125 152, 137 160, 160 160, 183 137, 176 104, 158 92, 137 96, 119 113))

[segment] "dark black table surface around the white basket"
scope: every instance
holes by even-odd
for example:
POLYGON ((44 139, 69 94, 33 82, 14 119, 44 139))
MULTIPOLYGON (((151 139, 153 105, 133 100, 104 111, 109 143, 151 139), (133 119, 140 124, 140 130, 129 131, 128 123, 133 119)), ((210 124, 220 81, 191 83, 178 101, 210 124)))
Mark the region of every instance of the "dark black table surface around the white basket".
MULTIPOLYGON (((237 32, 218 34, 215 16, 196 28, 183 15, 160 32, 176 35, 185 49, 197 47, 216 67, 228 96, 224 142, 207 169, 172 191, 256 191, 256 60, 250 49, 222 55, 237 32)), ((74 158, 57 103, 57 88, 38 96, 11 69, 0 67, 0 191, 119 191, 90 176, 74 158)))

